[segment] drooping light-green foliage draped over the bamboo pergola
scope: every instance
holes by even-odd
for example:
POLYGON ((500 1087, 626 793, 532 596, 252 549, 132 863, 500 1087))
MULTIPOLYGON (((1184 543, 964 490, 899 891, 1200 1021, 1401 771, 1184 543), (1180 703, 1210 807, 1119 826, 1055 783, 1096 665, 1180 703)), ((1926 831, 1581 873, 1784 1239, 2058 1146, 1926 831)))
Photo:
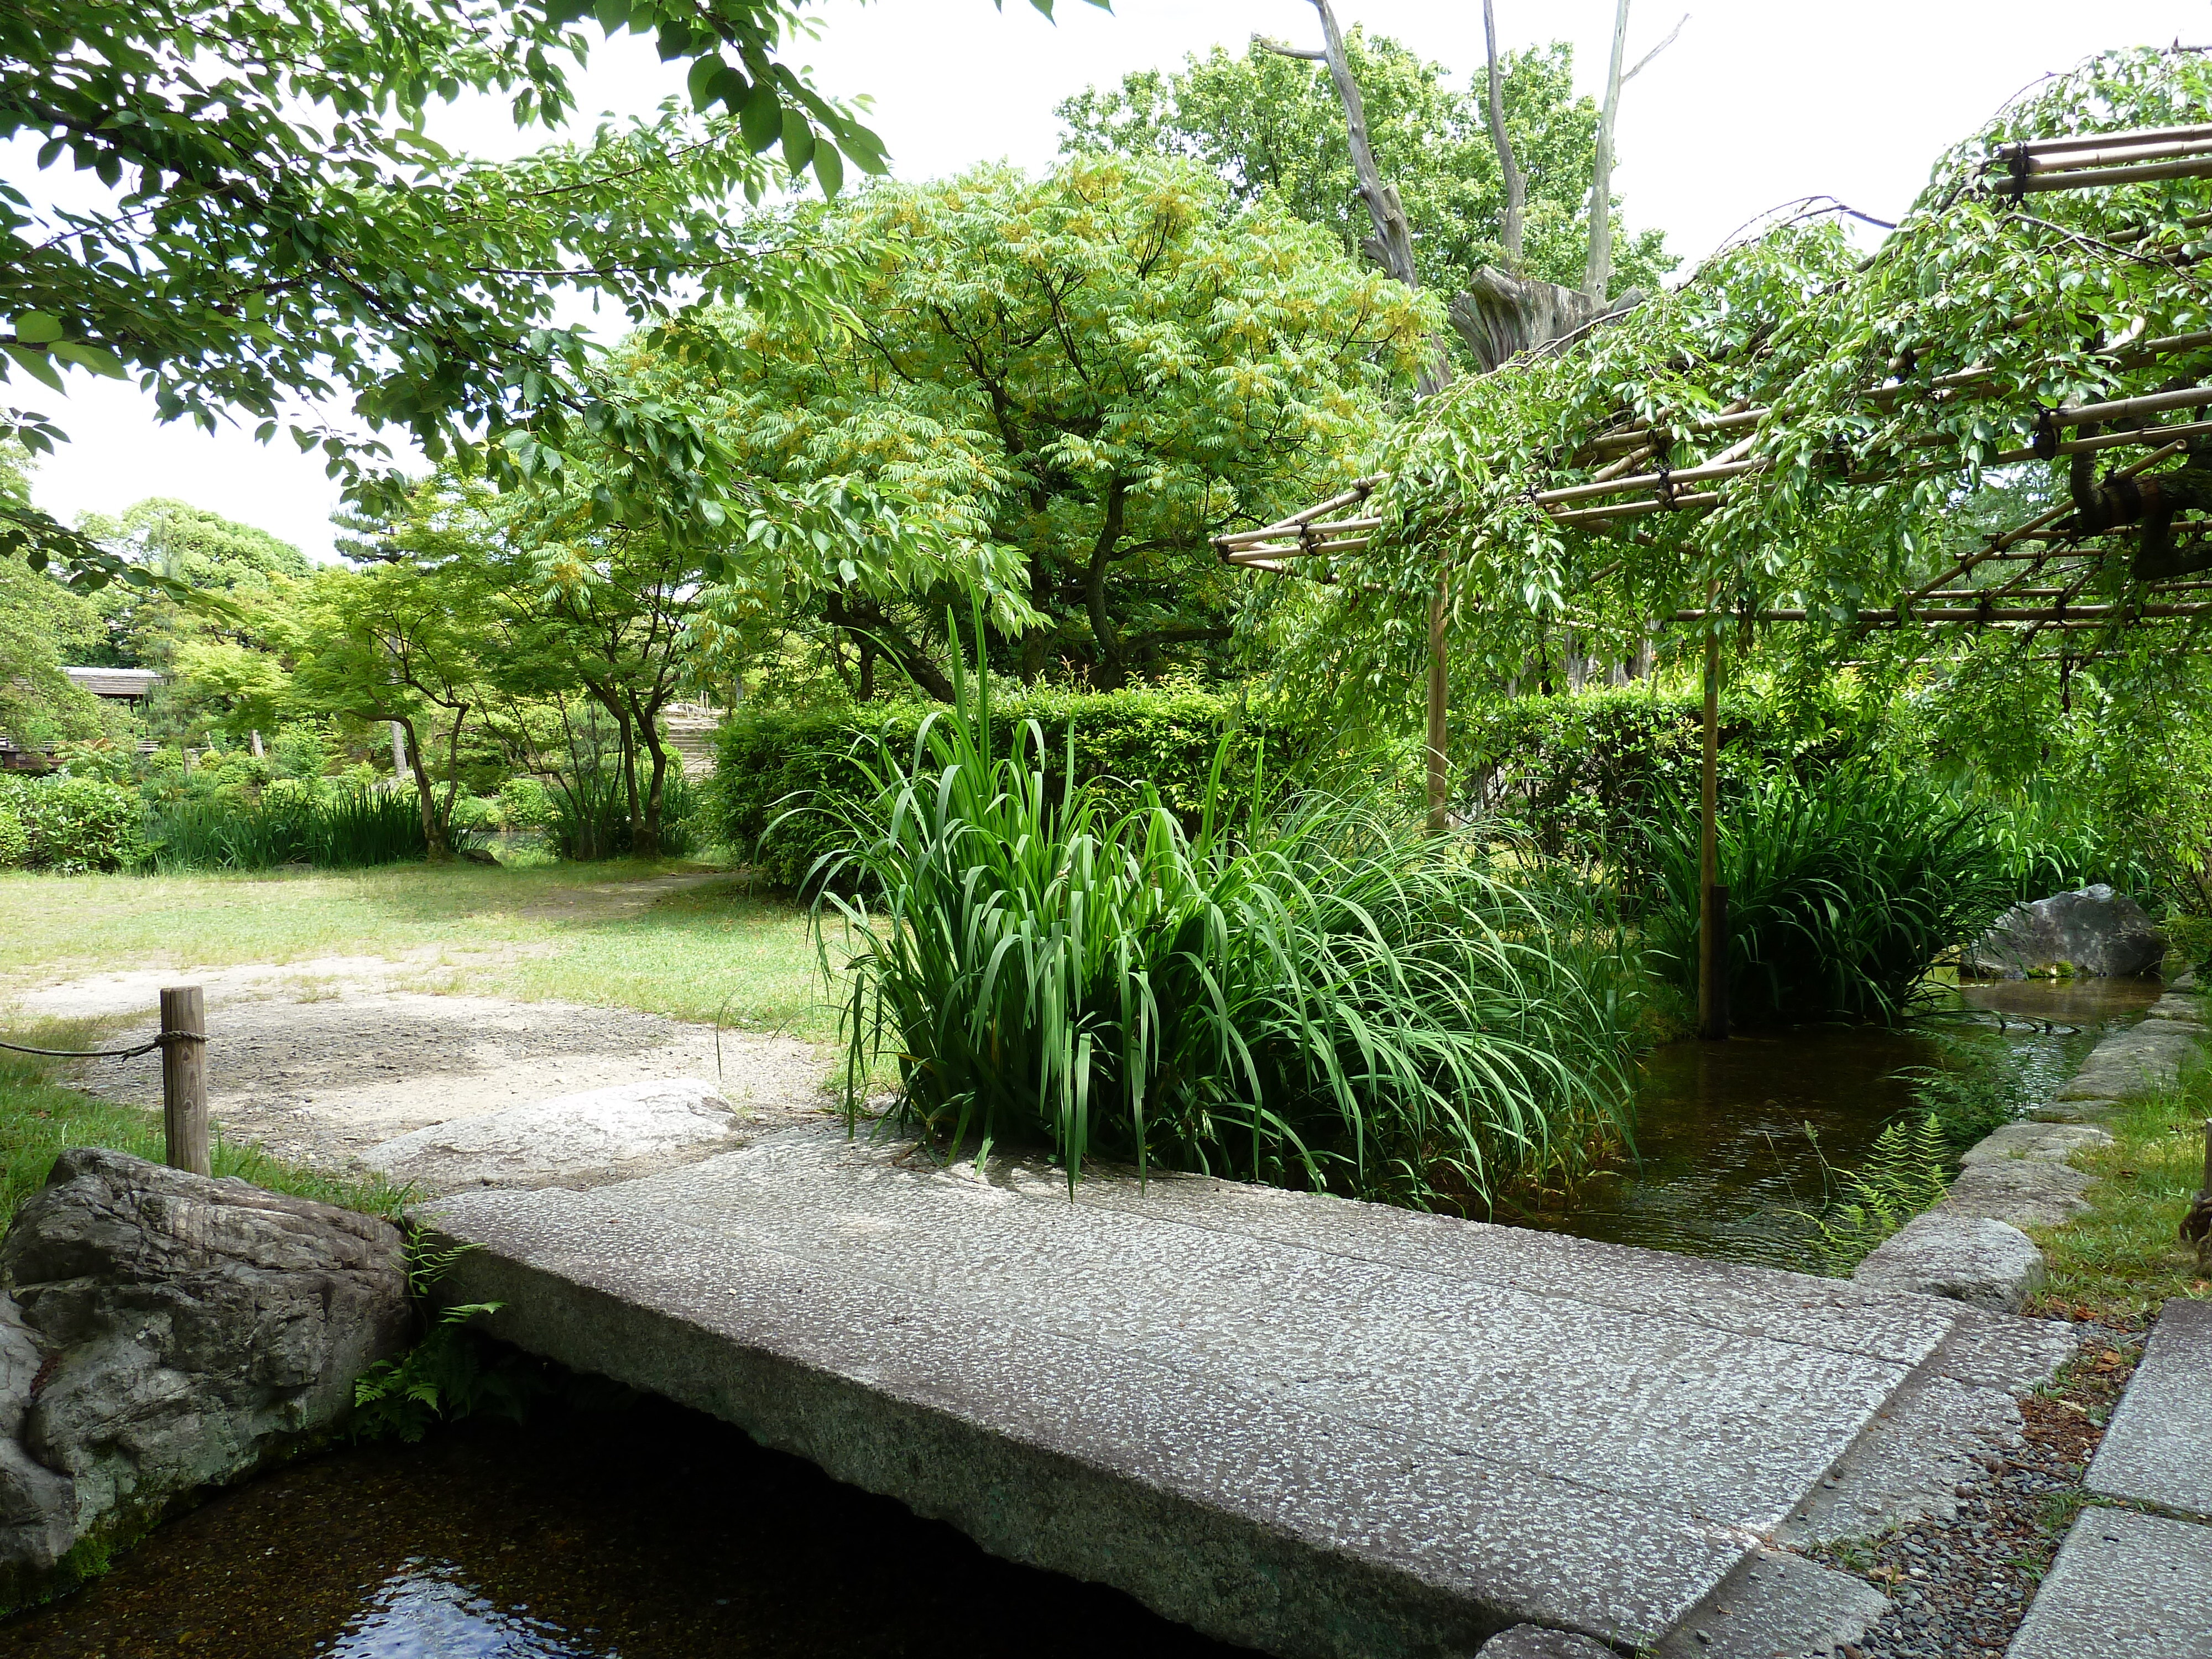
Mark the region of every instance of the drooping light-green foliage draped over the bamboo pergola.
MULTIPOLYGON (((2031 135, 2199 122, 2208 104, 2212 66, 2199 53, 2095 58, 1940 157, 1871 259, 1834 215, 1794 215, 1617 327, 1462 378, 1391 440, 1391 482, 1376 498, 1387 522, 1343 562, 1352 593, 1321 602, 1314 657, 1347 699, 1402 699, 1418 684, 1440 562, 1469 690, 1515 679, 1564 628, 1599 657, 1626 650, 1655 619, 1703 606, 1708 584, 1730 611, 1807 611, 1812 626, 1794 637, 1809 653, 1865 655, 1856 615, 1893 606, 1962 538, 1973 544, 1980 491, 2064 495, 2064 462, 1995 462, 2031 445, 2044 409, 2212 372, 2208 349, 2150 361, 2124 349, 2208 327, 2212 181, 2013 204, 1978 186, 1982 161, 2031 135), (1966 369, 1971 383, 1947 380, 1966 369), (1728 407, 1772 414, 1754 429, 1697 429, 1728 407), (1646 420, 1672 471, 1745 438, 1743 458, 1763 469, 1719 484, 1710 513, 1613 526, 1559 524, 1533 500, 1621 453, 1593 451, 1590 438, 1646 420)), ((2073 593, 2130 595, 2126 560, 2104 560, 2073 593)))

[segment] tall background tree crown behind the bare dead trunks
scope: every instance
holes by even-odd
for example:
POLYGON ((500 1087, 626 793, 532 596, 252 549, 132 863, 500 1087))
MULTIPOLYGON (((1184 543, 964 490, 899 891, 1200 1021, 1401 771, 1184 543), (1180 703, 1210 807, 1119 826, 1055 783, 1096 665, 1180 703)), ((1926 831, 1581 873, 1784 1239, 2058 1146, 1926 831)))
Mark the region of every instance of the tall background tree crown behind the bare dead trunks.
MULTIPOLYGON (((1413 228, 1422 288, 1447 299, 1484 265, 1509 265, 1500 241, 1504 181, 1484 91, 1449 84, 1449 71, 1389 35, 1352 29, 1345 58, 1360 86, 1383 177, 1398 188, 1413 228)), ((1515 274, 1573 288, 1588 254, 1597 106, 1575 97, 1564 42, 1502 60, 1506 133, 1526 175, 1526 232, 1515 274)), ((1179 73, 1124 75, 1060 106, 1062 148, 1077 155, 1183 155, 1221 175, 1237 201, 1274 195, 1307 223, 1325 226, 1356 254, 1369 237, 1356 195, 1345 113, 1327 71, 1261 46, 1241 58, 1214 46, 1179 73)), ((1617 230, 1613 285, 1655 288, 1674 261, 1657 230, 1617 230)))

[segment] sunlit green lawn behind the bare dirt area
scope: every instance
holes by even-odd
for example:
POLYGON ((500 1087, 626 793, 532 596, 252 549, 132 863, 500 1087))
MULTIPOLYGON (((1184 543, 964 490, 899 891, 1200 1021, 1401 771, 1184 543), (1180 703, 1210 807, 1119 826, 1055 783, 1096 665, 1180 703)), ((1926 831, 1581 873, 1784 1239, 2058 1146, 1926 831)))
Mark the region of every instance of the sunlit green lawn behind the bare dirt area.
POLYGON ((602 914, 695 865, 394 865, 254 876, 0 876, 0 1000, 88 973, 374 956, 409 984, 834 1035, 805 914, 741 878, 602 914))

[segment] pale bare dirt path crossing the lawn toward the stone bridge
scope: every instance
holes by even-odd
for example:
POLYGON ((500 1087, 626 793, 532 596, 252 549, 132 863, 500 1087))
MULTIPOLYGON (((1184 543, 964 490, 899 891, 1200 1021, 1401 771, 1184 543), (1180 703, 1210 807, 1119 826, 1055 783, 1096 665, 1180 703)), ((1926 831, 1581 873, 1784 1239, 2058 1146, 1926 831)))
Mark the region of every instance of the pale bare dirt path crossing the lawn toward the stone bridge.
MULTIPOLYGON (((655 876, 562 894, 549 914, 619 916, 726 876, 655 876)), ((146 1015, 164 984, 208 995, 208 1106, 234 1141, 352 1170, 378 1141, 608 1084, 699 1077, 745 1126, 781 1128, 827 1106, 827 1057, 794 1037, 573 1002, 431 995, 407 989, 449 949, 325 956, 223 969, 131 969, 18 991, 29 1018, 146 1015)), ((159 1055, 108 1062, 84 1079, 111 1099, 161 1102, 159 1055)))

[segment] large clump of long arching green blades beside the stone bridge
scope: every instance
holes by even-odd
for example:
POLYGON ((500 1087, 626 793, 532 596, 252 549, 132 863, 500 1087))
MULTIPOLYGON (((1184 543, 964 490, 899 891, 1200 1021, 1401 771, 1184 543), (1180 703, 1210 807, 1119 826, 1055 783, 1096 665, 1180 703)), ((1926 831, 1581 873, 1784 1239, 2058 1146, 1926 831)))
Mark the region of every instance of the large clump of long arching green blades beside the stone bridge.
MULTIPOLYGON (((1186 832, 1135 785, 1046 785, 1046 734, 991 752, 989 684, 900 754, 810 876, 845 925, 847 1108, 878 1062, 894 1126, 945 1155, 1042 1146, 1411 1206, 1486 1208, 1624 1139, 1626 1011, 1564 902, 1480 836, 1411 836, 1323 790, 1186 832)), ((1064 757, 1053 757, 1064 759, 1064 757)))

